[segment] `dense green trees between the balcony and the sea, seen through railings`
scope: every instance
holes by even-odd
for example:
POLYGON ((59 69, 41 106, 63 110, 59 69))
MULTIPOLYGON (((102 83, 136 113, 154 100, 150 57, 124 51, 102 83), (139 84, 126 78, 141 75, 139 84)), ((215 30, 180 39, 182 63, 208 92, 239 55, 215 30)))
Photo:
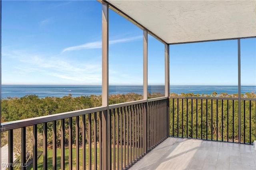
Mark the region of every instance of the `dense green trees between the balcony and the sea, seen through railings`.
MULTIPOLYGON (((148 94, 149 98, 161 97, 163 94, 154 93, 148 94)), ((189 99, 172 99, 170 98, 170 135, 179 137, 193 137, 202 139, 218 139, 218 140, 238 140, 238 101, 232 102, 228 98, 237 98, 238 94, 193 94, 181 93, 170 94, 170 96, 186 96, 186 97, 221 97, 227 100, 197 100, 189 99), (183 105, 183 106, 182 106, 183 105), (218 107, 217 107, 218 105, 218 107), (228 117, 229 116, 229 117, 228 117), (218 117, 218 118, 217 118, 218 117), (234 118, 233 118, 234 117, 234 118), (188 120, 188 121, 187 121, 188 120), (234 131, 233 129, 234 125, 234 131), (229 129, 229 131, 227 131, 229 129), (222 133, 223 130, 223 133, 222 133), (234 132, 234 135, 233 135, 234 132), (188 134, 188 135, 187 135, 188 134)), ((241 95, 243 98, 256 98, 256 94, 246 93, 241 95)), ((143 96, 136 93, 115 94, 109 96, 109 104, 118 104, 142 100, 143 96)), ((1 100, 1 120, 2 122, 15 121, 19 119, 27 119, 31 117, 39 117, 44 115, 52 115, 67 111, 75 111, 80 109, 102 106, 102 96, 90 95, 72 97, 71 94, 62 98, 46 97, 39 98, 36 95, 27 95, 22 98, 6 98, 1 100)), ((256 133, 256 102, 249 101, 241 102, 241 127, 242 127, 242 142, 245 139, 249 143, 249 137, 255 140, 256 133), (245 109, 243 109, 245 106, 245 109), (244 117, 244 110, 245 116, 244 117), (251 111, 251 115, 249 115, 251 111), (251 117, 250 117, 251 116, 251 117), (251 130, 250 128, 251 127, 251 130), (245 128, 245 134, 244 129, 245 128), (254 129, 253 129, 254 128, 254 129), (245 138, 244 138, 245 137, 245 138)), ((65 144, 69 143, 69 119, 64 120, 65 124, 65 144)), ((76 118, 71 119, 72 124, 72 144, 76 143, 76 118)), ((57 147, 60 147, 60 121, 56 121, 57 128, 57 147)), ((79 141, 82 141, 82 116, 79 117, 79 141)), ((86 143, 89 142, 89 134, 91 134, 91 142, 98 142, 99 139, 99 114, 91 113, 86 115, 86 143), (95 114, 95 116, 94 116, 95 114), (96 117, 96 120, 94 120, 96 117), (90 121, 89 121, 90 120, 90 121), (94 141, 94 122, 96 122, 96 140, 94 141), (88 125, 91 129, 89 133, 88 125)), ((42 129, 43 125, 38 125, 38 146, 42 146, 42 129)), ((14 129, 14 151, 17 155, 21 153, 21 130, 14 129)), ((27 160, 32 158, 32 127, 26 127, 26 152, 27 160)), ((8 143, 8 132, 1 134, 2 146, 8 143)), ((47 123, 47 144, 48 148, 52 148, 52 122, 47 123)), ((40 150, 40 149, 39 149, 40 150)))

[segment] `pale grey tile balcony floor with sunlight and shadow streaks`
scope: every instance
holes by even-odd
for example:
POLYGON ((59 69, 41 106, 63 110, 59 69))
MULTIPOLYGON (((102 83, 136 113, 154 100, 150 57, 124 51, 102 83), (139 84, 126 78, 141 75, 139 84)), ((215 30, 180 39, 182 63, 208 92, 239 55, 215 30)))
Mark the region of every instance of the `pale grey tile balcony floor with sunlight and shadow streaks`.
POLYGON ((169 137, 129 170, 256 170, 253 145, 169 137))

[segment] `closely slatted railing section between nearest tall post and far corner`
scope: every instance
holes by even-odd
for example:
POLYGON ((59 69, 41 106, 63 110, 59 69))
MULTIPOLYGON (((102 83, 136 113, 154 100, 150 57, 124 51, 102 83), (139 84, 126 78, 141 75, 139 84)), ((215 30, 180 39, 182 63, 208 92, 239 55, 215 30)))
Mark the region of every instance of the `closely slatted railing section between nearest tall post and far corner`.
POLYGON ((127 169, 168 137, 168 98, 109 106, 111 168, 127 169))

